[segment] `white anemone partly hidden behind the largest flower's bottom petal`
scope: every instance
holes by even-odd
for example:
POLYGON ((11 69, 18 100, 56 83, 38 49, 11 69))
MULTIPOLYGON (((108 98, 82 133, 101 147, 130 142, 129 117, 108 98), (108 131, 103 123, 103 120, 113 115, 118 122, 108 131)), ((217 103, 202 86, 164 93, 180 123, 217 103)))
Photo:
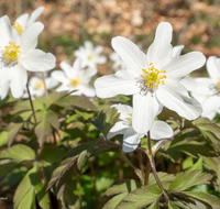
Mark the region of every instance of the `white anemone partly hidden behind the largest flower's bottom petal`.
MULTIPOLYGON (((141 143, 141 139, 146 134, 138 133, 132 128, 132 107, 127 105, 113 105, 120 113, 118 121, 109 131, 107 139, 123 134, 122 150, 125 153, 134 151, 141 143)), ((162 140, 173 136, 173 129, 164 121, 156 120, 150 129, 152 140, 162 140)))

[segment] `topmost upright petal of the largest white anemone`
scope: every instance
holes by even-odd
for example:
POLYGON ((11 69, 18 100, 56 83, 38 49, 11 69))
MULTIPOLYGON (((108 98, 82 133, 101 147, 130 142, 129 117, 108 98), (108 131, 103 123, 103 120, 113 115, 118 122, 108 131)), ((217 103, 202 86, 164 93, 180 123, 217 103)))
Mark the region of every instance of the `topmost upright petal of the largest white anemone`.
POLYGON ((173 46, 172 42, 173 28, 168 22, 161 22, 156 29, 154 42, 147 51, 147 62, 153 63, 158 69, 162 69, 170 61, 173 46))

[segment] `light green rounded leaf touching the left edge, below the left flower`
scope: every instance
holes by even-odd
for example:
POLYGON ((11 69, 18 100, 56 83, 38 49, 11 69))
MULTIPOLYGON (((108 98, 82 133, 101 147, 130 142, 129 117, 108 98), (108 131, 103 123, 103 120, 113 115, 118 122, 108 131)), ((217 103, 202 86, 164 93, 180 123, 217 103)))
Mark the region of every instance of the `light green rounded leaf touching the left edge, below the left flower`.
POLYGON ((0 152, 1 158, 11 158, 14 161, 31 161, 35 158, 35 153, 32 148, 23 144, 16 144, 0 152))

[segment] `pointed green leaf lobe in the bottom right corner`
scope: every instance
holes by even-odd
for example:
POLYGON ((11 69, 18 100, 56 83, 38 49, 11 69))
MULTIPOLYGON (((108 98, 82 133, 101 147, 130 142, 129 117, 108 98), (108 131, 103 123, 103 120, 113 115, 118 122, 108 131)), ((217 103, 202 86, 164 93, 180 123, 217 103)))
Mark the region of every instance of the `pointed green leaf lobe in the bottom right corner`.
POLYGON ((188 197, 193 197, 194 199, 199 200, 201 202, 207 202, 215 209, 220 208, 220 199, 216 196, 199 191, 179 191, 178 194, 187 195, 188 197))

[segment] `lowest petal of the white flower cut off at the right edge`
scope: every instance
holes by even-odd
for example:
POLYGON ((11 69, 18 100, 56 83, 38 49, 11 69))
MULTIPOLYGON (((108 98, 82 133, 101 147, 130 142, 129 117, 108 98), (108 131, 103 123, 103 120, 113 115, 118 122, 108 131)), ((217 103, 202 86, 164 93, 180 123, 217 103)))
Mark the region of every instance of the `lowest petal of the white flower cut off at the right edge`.
POLYGON ((201 113, 201 116, 207 117, 212 111, 217 111, 219 108, 220 108, 220 97, 211 96, 204 101, 202 103, 204 112, 201 113))

